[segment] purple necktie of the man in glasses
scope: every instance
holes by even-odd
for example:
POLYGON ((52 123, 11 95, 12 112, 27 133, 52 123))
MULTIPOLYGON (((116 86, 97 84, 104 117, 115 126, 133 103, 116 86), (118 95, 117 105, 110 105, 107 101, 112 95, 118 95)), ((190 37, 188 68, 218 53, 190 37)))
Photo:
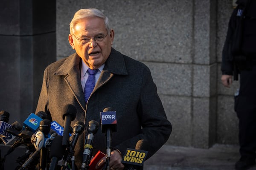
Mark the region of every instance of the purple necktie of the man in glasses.
POLYGON ((89 77, 85 83, 84 86, 84 99, 85 102, 88 101, 90 94, 93 92, 93 88, 95 86, 95 74, 98 72, 99 70, 92 70, 90 68, 88 68, 87 73, 89 73, 89 77))

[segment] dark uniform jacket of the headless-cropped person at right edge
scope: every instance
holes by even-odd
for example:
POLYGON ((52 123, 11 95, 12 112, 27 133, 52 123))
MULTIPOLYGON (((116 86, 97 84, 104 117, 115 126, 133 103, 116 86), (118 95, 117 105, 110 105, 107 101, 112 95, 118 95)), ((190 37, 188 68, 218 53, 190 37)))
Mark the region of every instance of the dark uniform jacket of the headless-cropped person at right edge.
POLYGON ((227 75, 233 75, 236 67, 250 69, 256 62, 256 1, 237 0, 236 3, 222 51, 221 71, 227 75))

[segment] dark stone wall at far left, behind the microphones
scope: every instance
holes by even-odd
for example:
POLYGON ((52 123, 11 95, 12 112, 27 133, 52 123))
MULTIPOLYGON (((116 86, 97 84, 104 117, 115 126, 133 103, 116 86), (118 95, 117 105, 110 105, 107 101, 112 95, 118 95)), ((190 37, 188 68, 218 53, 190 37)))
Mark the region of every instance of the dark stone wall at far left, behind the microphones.
MULTIPOLYGON (((10 113, 10 124, 22 125, 35 112, 44 68, 56 61, 55 6, 55 0, 1 0, 0 110, 10 113)), ((1 143, 0 157, 9 148, 1 143)), ((5 169, 14 170, 25 150, 6 156, 5 169)))

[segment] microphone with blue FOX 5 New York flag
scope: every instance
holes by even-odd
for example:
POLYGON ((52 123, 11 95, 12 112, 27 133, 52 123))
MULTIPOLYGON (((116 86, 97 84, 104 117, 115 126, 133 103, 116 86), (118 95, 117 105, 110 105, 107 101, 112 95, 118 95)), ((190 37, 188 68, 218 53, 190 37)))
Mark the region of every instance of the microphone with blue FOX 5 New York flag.
POLYGON ((116 111, 113 111, 112 108, 105 108, 103 112, 100 113, 100 116, 102 133, 105 133, 106 136, 106 163, 103 167, 103 170, 105 170, 105 168, 109 169, 112 132, 116 132, 116 111))

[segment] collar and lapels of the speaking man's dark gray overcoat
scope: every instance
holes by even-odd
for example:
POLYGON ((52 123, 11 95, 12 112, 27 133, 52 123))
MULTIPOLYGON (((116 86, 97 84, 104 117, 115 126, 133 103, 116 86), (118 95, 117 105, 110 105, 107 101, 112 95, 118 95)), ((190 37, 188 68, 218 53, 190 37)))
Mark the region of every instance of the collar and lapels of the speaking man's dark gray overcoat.
MULTIPOLYGON (((84 94, 81 86, 81 76, 80 76, 80 67, 79 67, 80 57, 74 53, 67 57, 67 59, 62 63, 62 65, 55 72, 55 75, 66 76, 64 79, 67 82, 70 90, 74 94, 75 98, 81 105, 85 108, 84 94)), ((105 62, 105 67, 102 70, 102 73, 95 85, 95 88, 92 94, 105 83, 107 83, 114 74, 117 75, 127 75, 127 70, 125 67, 125 61, 123 55, 116 51, 114 48, 111 49, 111 54, 105 62)))

